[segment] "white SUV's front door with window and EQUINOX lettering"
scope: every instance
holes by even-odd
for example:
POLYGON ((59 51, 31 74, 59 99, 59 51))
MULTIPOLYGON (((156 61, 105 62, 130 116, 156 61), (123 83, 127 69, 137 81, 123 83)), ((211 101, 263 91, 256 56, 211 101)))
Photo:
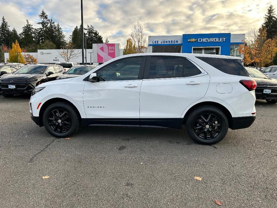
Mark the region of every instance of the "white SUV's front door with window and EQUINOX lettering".
POLYGON ((99 82, 86 82, 84 109, 92 124, 93 119, 98 124, 102 119, 105 124, 139 125, 145 59, 137 56, 112 62, 96 71, 99 82))

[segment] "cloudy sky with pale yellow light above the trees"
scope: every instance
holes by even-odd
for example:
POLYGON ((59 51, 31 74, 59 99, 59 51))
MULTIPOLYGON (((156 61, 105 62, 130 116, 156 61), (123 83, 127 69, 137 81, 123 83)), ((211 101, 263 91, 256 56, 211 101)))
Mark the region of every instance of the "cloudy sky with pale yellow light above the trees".
MULTIPOLYGON (((80 0, 0 0, 0 16, 10 29, 22 31, 26 19, 38 27, 42 9, 59 22, 66 36, 81 24, 80 0)), ((182 35, 190 33, 247 33, 259 28, 273 0, 83 0, 84 25, 93 25, 105 41, 121 48, 139 21, 144 33, 182 35)), ((276 12, 277 13, 277 12, 276 12)))

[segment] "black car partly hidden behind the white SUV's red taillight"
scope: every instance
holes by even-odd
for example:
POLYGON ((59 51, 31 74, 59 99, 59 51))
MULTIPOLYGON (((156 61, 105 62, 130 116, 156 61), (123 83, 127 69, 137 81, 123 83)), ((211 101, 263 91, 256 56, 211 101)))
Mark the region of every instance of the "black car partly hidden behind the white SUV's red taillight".
POLYGON ((267 103, 277 103, 277 79, 269 78, 259 70, 245 68, 257 82, 256 99, 266 100, 267 103))

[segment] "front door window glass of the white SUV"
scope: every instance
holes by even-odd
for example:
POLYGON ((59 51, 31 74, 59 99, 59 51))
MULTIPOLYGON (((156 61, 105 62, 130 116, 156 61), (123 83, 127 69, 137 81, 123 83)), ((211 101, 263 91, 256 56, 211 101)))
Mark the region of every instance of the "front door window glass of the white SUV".
POLYGON ((100 81, 138 79, 142 57, 125 58, 115 61, 97 71, 100 81))

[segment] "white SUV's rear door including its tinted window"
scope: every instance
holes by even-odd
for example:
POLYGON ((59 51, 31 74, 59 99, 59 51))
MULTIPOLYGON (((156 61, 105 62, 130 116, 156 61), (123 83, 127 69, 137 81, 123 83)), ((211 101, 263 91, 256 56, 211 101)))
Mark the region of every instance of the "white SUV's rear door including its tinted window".
POLYGON ((204 97, 209 82, 187 58, 149 56, 140 89, 141 126, 178 127, 185 108, 204 97))

